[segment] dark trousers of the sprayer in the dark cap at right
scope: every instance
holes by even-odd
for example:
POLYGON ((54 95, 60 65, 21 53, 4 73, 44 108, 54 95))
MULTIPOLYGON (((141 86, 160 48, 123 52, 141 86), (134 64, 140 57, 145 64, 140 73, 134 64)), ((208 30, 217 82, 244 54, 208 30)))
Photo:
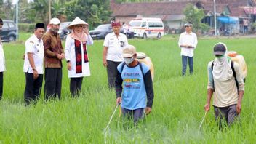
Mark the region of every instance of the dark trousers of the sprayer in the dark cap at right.
POLYGON ((219 128, 223 124, 230 126, 236 119, 239 119, 239 113, 236 112, 236 105, 230 105, 224 108, 214 107, 215 119, 218 121, 219 128))

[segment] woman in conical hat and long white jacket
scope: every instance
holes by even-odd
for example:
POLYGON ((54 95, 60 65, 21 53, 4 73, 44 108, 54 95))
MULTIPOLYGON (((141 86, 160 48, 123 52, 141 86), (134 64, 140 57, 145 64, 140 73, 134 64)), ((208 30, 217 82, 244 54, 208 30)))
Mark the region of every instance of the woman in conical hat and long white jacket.
POLYGON ((76 17, 68 25, 72 31, 65 41, 65 59, 68 66, 68 78, 70 81, 71 95, 78 96, 84 76, 90 76, 87 45, 92 45, 92 37, 89 36, 88 24, 76 17))

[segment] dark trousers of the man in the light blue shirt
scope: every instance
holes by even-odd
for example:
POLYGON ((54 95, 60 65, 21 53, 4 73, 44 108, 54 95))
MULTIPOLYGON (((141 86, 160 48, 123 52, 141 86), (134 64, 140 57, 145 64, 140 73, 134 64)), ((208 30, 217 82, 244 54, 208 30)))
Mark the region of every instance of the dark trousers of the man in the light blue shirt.
POLYGON ((138 108, 135 110, 128 110, 125 108, 121 108, 121 113, 123 113, 124 117, 128 119, 133 119, 134 124, 137 123, 140 119, 144 117, 144 108, 138 108))

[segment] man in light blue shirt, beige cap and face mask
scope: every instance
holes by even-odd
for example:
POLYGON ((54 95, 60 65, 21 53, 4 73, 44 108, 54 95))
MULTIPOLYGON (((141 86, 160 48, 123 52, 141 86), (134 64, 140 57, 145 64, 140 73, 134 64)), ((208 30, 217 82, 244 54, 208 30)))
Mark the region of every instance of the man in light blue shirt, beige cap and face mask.
POLYGON ((143 112, 151 113, 153 105, 153 84, 151 72, 144 63, 136 60, 136 49, 128 45, 122 52, 124 62, 117 67, 116 104, 121 103, 121 111, 134 123, 143 118, 143 112))

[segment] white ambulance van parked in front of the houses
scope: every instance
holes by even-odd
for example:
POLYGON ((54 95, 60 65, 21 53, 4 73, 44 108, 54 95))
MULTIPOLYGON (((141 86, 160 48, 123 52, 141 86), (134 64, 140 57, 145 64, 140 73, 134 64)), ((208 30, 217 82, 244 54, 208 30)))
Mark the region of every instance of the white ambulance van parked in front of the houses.
POLYGON ((161 18, 141 17, 134 18, 129 22, 135 37, 158 38, 164 36, 164 23, 161 18))

